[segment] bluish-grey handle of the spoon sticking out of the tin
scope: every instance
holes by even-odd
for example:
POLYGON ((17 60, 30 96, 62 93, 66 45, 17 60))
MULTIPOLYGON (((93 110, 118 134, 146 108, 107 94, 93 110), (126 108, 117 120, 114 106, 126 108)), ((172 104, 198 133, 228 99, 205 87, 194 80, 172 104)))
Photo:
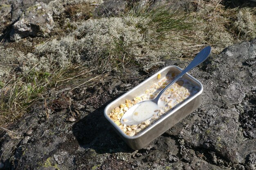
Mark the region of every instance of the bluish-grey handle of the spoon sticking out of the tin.
POLYGON ((164 91, 168 87, 170 87, 172 84, 177 82, 177 80, 180 79, 180 77, 182 77, 184 74, 186 74, 187 72, 189 72, 190 70, 192 70, 193 68, 195 68, 196 66, 201 64, 202 62, 204 62, 204 60, 206 60, 209 57, 210 53, 211 53, 211 46, 207 46, 204 49, 202 49, 195 56, 195 58, 192 60, 192 62, 179 75, 177 75, 177 77, 175 79, 173 79, 173 81, 171 81, 171 83, 169 83, 164 89, 162 89, 162 91, 159 92, 157 97, 155 99, 153 99, 153 102, 155 102, 157 104, 158 99, 161 97, 161 95, 164 93, 164 91))

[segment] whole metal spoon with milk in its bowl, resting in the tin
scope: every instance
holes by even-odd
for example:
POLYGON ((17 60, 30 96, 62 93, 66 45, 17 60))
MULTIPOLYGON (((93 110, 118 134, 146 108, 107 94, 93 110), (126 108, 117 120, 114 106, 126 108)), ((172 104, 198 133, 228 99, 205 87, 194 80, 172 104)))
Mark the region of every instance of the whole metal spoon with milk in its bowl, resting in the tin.
POLYGON ((172 84, 177 82, 178 79, 180 79, 184 74, 186 74, 188 71, 192 70, 204 60, 209 57, 211 53, 211 46, 207 46, 202 51, 200 51, 192 60, 192 62, 179 74, 173 81, 171 81, 162 91, 159 92, 157 97, 153 100, 146 100, 139 102, 129 108, 127 112, 124 114, 124 116, 121 118, 121 124, 126 125, 135 125, 140 124, 142 121, 146 121, 150 117, 153 117, 154 114, 156 114, 155 110, 158 110, 158 100, 161 97, 161 95, 164 93, 164 91, 170 87, 172 84))

